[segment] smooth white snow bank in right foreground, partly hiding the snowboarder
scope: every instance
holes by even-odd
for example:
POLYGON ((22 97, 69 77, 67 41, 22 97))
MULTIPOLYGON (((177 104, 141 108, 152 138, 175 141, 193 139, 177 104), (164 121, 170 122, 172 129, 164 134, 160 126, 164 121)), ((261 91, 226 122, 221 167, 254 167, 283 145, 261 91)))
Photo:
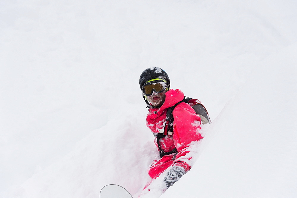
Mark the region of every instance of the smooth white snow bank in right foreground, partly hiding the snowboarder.
POLYGON ((257 64, 214 120, 191 174, 162 197, 296 197, 296 52, 257 64))

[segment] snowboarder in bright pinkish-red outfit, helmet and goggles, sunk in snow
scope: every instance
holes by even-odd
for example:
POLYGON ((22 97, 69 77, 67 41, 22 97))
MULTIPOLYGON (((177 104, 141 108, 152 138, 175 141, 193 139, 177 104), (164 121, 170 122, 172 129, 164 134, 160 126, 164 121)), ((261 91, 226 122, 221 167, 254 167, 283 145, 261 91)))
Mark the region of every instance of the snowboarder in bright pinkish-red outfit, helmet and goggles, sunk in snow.
POLYGON ((160 158, 149 167, 148 173, 154 180, 169 169, 163 180, 169 188, 190 170, 192 157, 189 145, 203 138, 199 132, 201 118, 209 123, 209 117, 206 110, 207 116, 199 116, 189 104, 181 102, 184 94, 179 89, 170 89, 169 77, 159 67, 144 70, 140 75, 139 85, 149 109, 146 125, 155 136, 154 142, 160 154, 160 158), (171 115, 173 124, 167 126, 166 118, 170 116, 170 107, 174 108, 171 115))

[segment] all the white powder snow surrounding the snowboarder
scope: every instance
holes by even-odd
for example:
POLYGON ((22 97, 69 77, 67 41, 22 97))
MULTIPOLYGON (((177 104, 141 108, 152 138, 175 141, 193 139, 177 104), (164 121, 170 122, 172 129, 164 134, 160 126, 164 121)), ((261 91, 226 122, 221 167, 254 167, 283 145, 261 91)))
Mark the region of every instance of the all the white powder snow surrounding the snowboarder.
POLYGON ((138 83, 154 66, 212 123, 189 173, 147 197, 296 197, 296 7, 1 1, 0 197, 99 197, 110 183, 137 197, 159 154, 138 83))

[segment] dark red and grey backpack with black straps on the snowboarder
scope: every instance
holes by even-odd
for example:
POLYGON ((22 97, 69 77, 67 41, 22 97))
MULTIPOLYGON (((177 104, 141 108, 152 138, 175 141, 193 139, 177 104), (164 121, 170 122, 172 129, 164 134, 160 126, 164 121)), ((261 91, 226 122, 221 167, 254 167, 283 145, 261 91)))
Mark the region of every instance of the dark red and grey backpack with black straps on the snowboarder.
POLYGON ((208 112, 207 112, 206 108, 204 107, 204 105, 197 99, 192 99, 192 98, 185 96, 182 101, 176 103, 174 106, 169 107, 167 109, 166 121, 164 122, 163 129, 160 129, 159 133, 157 135, 154 134, 155 136, 157 136, 157 144, 158 144, 158 148, 159 148, 160 158, 162 158, 165 155, 177 153, 176 148, 169 152, 162 151, 159 141, 160 141, 160 138, 163 138, 166 135, 173 135, 173 110, 179 103, 182 103, 182 102, 189 104, 195 110, 197 115, 199 115, 199 117, 201 118, 201 121, 203 124, 211 123, 208 112))

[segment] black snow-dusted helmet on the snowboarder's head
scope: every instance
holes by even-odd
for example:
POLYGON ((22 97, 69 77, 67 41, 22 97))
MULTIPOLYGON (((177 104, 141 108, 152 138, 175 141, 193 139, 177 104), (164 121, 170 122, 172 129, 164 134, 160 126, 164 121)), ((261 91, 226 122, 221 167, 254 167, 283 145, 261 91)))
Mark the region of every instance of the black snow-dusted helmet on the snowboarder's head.
POLYGON ((142 91, 142 86, 149 80, 154 78, 161 78, 166 80, 167 86, 170 87, 170 80, 167 73, 159 67, 150 67, 142 72, 139 77, 139 85, 142 91))

